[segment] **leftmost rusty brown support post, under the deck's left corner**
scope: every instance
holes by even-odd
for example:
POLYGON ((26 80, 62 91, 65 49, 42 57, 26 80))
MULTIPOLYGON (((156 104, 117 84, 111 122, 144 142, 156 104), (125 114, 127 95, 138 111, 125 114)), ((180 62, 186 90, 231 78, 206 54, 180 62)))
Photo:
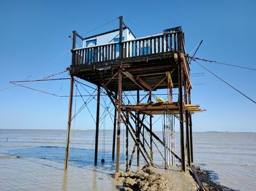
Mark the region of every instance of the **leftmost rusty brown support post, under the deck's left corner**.
POLYGON ((64 170, 67 170, 67 164, 69 162, 69 142, 70 142, 70 128, 71 128, 71 120, 72 120, 73 88, 74 88, 74 77, 71 76, 70 93, 69 93, 69 116, 67 120, 67 142, 66 142, 64 170))

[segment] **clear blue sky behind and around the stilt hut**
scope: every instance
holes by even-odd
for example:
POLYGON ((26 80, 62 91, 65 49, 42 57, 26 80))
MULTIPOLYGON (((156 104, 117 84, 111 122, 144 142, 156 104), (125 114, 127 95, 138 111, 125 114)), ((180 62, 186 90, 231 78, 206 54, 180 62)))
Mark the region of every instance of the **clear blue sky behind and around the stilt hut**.
MULTIPOLYGON (((72 30, 84 36, 118 28, 118 20, 92 33, 104 23, 124 16, 136 36, 161 33, 182 26, 186 49, 203 39, 197 57, 256 68, 256 1, 1 1, 0 6, 0 128, 67 128, 68 98, 10 87, 12 80, 37 79, 70 64, 72 30), (128 19, 128 20, 127 20, 128 19), (132 23, 130 22, 132 21, 132 23)), ((203 63, 256 100, 256 71, 203 63)), ((192 63, 192 102, 207 112, 196 114, 195 131, 255 131, 256 104, 192 63)), ((61 75, 60 77, 68 77, 61 75)), ((69 82, 29 84, 67 95, 69 82)), ((78 107, 81 104, 78 101, 78 107)), ((89 105, 95 114, 95 102, 89 105)), ((111 126, 110 126, 111 127, 111 126)), ((92 129, 88 112, 80 114, 77 129, 92 129)), ((108 127, 107 127, 108 128, 108 127)), ((161 129, 162 127, 157 127, 161 129)))

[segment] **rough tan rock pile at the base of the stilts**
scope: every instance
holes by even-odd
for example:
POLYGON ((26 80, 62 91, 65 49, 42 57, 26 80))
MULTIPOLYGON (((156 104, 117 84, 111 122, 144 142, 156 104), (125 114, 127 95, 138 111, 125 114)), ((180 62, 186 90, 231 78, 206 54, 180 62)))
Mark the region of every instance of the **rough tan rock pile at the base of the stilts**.
POLYGON ((114 177, 123 182, 121 190, 170 190, 165 178, 149 166, 144 166, 140 171, 122 171, 114 174, 114 177))

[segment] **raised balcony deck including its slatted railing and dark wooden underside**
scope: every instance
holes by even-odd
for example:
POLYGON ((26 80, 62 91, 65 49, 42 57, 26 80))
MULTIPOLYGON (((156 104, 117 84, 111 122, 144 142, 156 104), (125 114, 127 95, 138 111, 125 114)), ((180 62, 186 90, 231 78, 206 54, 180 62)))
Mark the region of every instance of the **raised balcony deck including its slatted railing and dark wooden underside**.
MULTIPOLYGON (((166 71, 170 72, 175 88, 178 86, 178 56, 181 58, 184 74, 189 79, 181 32, 146 36, 123 41, 121 44, 113 42, 82 47, 72 52, 75 52, 75 56, 74 64, 69 68, 71 74, 95 85, 108 82, 111 78, 117 79, 117 76, 113 76, 121 69, 124 72, 123 90, 167 88, 166 71)), ((188 82, 191 85, 190 79, 188 82)), ((117 90, 117 80, 110 80, 108 87, 110 90, 117 90)))

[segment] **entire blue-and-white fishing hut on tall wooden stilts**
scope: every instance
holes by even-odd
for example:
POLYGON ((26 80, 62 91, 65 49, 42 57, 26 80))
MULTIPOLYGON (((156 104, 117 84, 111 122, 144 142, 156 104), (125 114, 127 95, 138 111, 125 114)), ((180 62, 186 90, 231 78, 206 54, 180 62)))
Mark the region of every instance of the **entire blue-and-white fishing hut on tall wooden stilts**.
POLYGON ((95 36, 91 36, 89 46, 84 47, 77 47, 76 40, 79 38, 85 42, 86 38, 73 31, 72 64, 68 69, 71 81, 64 169, 67 169, 69 159, 73 87, 77 77, 97 86, 94 165, 97 165, 98 157, 100 94, 104 91, 115 108, 112 159, 114 161, 116 157, 116 171, 120 170, 121 123, 125 125, 126 171, 131 167, 136 150, 137 165, 140 165, 142 157, 146 164, 154 166, 153 148, 157 144, 164 150, 165 168, 178 161, 181 171, 186 171, 186 166, 193 163, 192 114, 203 110, 191 102, 192 82, 189 58, 184 49, 184 33, 181 27, 176 27, 165 29, 162 34, 124 39, 124 30, 127 29, 123 17, 119 17, 116 41, 96 44, 95 36), (167 101, 154 95, 156 90, 165 90, 167 101), (174 90, 178 90, 176 100, 173 98, 174 90), (127 98, 129 91, 136 94, 136 104, 127 98), (156 115, 163 116, 162 138, 154 132, 152 117, 156 115), (180 155, 175 150, 174 119, 179 123, 180 155), (134 142, 131 153, 129 138, 134 142))

